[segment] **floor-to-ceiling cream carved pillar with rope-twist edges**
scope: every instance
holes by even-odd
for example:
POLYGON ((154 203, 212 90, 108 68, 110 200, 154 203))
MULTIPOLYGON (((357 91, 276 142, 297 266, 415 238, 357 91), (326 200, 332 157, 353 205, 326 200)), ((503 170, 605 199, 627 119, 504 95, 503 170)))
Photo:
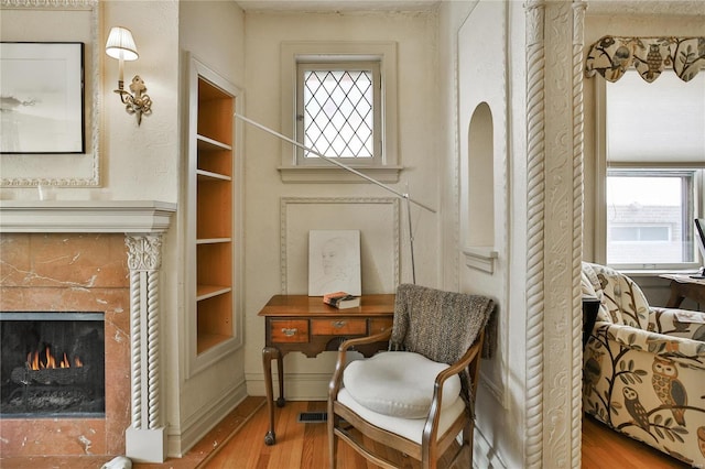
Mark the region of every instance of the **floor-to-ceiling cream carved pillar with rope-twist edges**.
POLYGON ((525 11, 524 467, 579 467, 585 2, 530 0, 525 11))

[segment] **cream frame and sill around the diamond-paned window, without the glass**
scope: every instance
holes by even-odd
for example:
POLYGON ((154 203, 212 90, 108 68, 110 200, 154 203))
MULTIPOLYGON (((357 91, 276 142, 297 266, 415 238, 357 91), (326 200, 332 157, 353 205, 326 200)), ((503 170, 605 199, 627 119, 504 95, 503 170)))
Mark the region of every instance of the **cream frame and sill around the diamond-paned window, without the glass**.
MULTIPOLYGON (((376 161, 356 162, 355 168, 384 183, 399 182, 398 75, 395 42, 285 42, 281 47, 281 129, 296 138, 299 63, 379 62, 381 86, 381 155, 376 161)), ((299 149, 281 144, 280 175, 283 182, 367 183, 360 176, 323 161, 302 162, 299 149)), ((347 159, 341 161, 347 163, 347 159)))

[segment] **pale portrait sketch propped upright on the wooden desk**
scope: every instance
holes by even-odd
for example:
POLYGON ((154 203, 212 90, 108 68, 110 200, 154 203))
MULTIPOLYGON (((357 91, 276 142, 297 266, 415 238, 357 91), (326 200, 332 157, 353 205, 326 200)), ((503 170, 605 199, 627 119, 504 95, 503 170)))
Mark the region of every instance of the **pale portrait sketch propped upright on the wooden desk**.
POLYGON ((308 296, 362 294, 359 230, 308 232, 308 296))

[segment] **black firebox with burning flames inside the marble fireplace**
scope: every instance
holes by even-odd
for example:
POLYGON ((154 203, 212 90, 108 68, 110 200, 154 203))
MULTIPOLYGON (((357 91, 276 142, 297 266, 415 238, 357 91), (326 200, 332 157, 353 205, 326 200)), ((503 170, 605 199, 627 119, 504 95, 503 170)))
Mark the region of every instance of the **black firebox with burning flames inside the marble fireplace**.
POLYGON ((0 313, 0 417, 105 417, 102 313, 0 313))

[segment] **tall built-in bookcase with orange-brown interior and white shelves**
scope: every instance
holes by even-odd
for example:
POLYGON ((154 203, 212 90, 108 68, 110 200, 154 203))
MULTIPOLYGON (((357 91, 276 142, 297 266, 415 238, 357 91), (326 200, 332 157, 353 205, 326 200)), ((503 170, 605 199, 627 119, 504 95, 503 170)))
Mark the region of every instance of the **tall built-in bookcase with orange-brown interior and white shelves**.
MULTIPOLYGON (((195 238, 189 239, 193 264, 189 276, 195 290, 189 314, 195 330, 191 330, 189 361, 235 337, 234 308, 234 233, 235 215, 235 101, 237 88, 203 66, 191 62, 191 149, 188 190, 189 214, 195 225, 195 238), (194 144, 195 143, 195 144, 194 144), (195 272, 195 274, 194 274, 195 272)), ((193 226, 193 225, 192 225, 193 226)), ((193 231, 191 231, 193 233, 193 231)), ((219 348, 220 350, 221 348, 219 348)), ((213 356, 213 355, 212 355, 213 356)), ((213 360, 209 358, 208 360, 213 360)))

